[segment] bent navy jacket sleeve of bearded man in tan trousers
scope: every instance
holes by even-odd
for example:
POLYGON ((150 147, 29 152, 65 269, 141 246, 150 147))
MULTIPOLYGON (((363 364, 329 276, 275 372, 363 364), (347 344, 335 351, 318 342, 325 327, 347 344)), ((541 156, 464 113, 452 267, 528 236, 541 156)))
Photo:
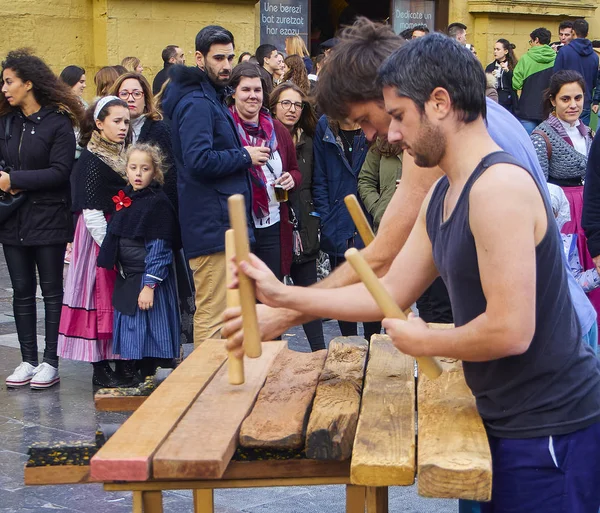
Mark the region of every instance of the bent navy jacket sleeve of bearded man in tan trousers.
POLYGON ((184 166, 202 179, 223 178, 252 165, 244 148, 213 149, 214 116, 206 101, 189 102, 179 116, 179 139, 184 166))

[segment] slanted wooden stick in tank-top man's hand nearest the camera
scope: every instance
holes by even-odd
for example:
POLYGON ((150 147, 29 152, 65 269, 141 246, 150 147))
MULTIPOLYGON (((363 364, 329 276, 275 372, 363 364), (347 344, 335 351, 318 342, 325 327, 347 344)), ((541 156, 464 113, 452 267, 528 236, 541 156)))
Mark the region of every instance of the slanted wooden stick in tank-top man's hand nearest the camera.
MULTIPOLYGON (((388 294, 387 290, 385 290, 373 272, 373 269, 369 267, 369 264, 367 264, 358 250, 356 248, 350 248, 348 251, 346 251, 344 256, 346 257, 346 260, 350 262, 350 265, 356 274, 360 276, 360 279, 365 284, 365 287, 367 287, 368 291, 379 305, 379 308, 381 308, 383 315, 391 319, 406 320, 406 315, 404 315, 402 309, 388 294)), ((418 356, 416 360, 419 364, 419 367, 429 379, 436 379, 442 373, 441 365, 433 358, 427 356, 418 356)))

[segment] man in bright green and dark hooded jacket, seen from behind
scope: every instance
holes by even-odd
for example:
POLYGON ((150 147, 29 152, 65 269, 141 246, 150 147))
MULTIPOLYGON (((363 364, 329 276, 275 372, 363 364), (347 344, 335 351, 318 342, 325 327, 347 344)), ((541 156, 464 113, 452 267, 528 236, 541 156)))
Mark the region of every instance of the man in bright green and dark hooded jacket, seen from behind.
POLYGON ((550 83, 556 52, 549 46, 552 34, 548 29, 537 28, 529 37, 531 48, 515 66, 512 85, 515 91, 521 91, 518 117, 531 135, 546 118, 542 96, 550 83))

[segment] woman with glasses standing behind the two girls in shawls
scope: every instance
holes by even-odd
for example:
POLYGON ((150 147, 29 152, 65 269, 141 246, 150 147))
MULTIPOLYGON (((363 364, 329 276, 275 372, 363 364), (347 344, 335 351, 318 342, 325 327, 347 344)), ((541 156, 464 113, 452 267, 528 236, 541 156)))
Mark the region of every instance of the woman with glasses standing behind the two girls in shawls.
MULTIPOLYGON (((165 184, 163 190, 173 206, 179 212, 177 200, 177 167, 171 145, 171 130, 163 120, 156 106, 152 88, 148 80, 139 73, 129 72, 121 75, 113 85, 112 94, 127 103, 131 115, 131 141, 157 146, 164 158, 165 184)), ((194 294, 187 260, 176 255, 177 276, 179 286, 180 310, 182 316, 182 341, 193 342, 194 294)))

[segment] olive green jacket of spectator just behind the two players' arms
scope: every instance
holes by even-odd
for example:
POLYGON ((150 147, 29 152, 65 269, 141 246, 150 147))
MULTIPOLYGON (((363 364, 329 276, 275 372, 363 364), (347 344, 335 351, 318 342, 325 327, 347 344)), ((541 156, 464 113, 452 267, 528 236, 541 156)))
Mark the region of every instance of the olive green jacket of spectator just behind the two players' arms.
POLYGON ((373 217, 377 232, 383 213, 396 192, 396 180, 402 176, 402 155, 383 157, 373 146, 358 175, 358 194, 373 217))

